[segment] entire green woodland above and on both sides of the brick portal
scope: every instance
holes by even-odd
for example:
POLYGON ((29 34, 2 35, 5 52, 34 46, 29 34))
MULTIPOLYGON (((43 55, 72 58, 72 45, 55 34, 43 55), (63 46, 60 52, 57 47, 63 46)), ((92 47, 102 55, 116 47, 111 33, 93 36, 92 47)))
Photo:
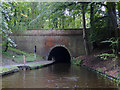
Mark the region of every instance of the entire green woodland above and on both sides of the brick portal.
POLYGON ((86 55, 91 52, 90 45, 93 50, 101 43, 109 46, 112 54, 119 54, 120 2, 1 2, 0 10, 5 51, 9 46, 16 47, 11 33, 83 28, 86 55))

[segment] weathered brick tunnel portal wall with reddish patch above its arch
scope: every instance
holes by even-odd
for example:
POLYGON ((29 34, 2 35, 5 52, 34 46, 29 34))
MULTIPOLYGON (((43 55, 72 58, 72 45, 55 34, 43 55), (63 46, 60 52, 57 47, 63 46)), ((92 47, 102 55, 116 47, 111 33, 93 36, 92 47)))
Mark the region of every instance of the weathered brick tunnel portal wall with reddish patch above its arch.
POLYGON ((85 54, 82 30, 26 30, 21 35, 11 35, 11 38, 18 49, 29 53, 34 53, 36 46, 36 53, 46 60, 55 56, 59 61, 58 55, 62 54, 61 58, 66 56, 64 58, 69 61, 72 57, 85 54))

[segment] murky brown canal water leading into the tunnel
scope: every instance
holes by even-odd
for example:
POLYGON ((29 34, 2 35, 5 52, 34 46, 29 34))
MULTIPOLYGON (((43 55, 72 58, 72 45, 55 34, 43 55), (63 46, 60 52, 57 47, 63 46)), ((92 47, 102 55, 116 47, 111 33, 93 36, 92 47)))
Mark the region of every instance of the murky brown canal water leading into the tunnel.
POLYGON ((93 71, 58 63, 41 69, 4 76, 3 88, 117 88, 117 84, 93 71))

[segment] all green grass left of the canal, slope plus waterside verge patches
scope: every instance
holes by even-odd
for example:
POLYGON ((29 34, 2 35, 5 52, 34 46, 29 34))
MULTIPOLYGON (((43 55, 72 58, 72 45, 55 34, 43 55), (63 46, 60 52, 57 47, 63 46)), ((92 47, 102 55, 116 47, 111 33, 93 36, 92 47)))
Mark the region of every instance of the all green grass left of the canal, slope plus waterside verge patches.
MULTIPOLYGON (((25 60, 27 62, 35 61, 34 53, 27 53, 27 52, 21 51, 16 48, 11 48, 11 47, 9 47, 9 50, 7 52, 4 52, 2 50, 2 55, 9 60, 13 60, 13 56, 14 56, 14 61, 17 63, 23 63, 23 55, 25 55, 25 60)), ((37 55, 37 59, 42 59, 42 57, 37 55)), ((30 67, 41 66, 41 64, 28 65, 28 66, 30 67)), ((0 73, 8 72, 14 69, 18 69, 18 67, 17 66, 0 67, 0 73)))

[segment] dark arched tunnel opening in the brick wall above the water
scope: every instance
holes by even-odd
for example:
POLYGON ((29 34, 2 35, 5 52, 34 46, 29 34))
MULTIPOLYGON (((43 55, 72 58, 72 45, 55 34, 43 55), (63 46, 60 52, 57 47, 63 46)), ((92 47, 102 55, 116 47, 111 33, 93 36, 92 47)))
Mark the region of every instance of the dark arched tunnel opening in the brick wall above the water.
POLYGON ((51 50, 48 60, 55 60, 55 62, 70 63, 70 54, 64 47, 58 46, 51 50))

